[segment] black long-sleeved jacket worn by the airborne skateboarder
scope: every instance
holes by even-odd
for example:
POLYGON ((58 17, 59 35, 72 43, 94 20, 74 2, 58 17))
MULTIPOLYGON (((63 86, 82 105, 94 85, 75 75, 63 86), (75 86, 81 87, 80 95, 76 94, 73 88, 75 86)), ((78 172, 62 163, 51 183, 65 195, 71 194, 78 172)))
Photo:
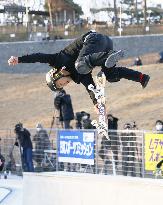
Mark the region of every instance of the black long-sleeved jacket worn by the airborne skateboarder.
POLYGON ((33 53, 31 55, 25 55, 18 58, 19 63, 48 63, 49 66, 55 67, 56 69, 61 69, 62 67, 66 67, 66 70, 70 72, 70 76, 72 80, 80 84, 82 83, 85 88, 87 89, 92 101, 94 104, 97 103, 97 100, 95 99, 95 96, 92 91, 88 90, 88 85, 93 84, 95 86, 95 83, 92 78, 92 74, 79 74, 75 69, 75 61, 78 58, 78 55, 80 53, 80 50, 83 47, 85 36, 87 36, 89 33, 84 34, 83 36, 76 39, 74 42, 72 42, 70 45, 65 47, 63 50, 61 50, 58 53, 55 54, 43 54, 43 53, 33 53))

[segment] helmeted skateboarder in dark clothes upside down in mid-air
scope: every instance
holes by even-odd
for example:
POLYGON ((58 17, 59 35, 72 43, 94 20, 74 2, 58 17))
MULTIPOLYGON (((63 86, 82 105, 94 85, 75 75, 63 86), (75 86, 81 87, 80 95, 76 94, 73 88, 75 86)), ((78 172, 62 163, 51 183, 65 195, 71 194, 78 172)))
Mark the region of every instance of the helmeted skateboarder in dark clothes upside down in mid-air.
POLYGON ((126 67, 118 67, 116 63, 123 57, 122 50, 113 50, 113 41, 106 35, 90 31, 75 39, 58 53, 33 53, 24 56, 11 56, 9 65, 18 63, 48 63, 52 69, 46 74, 46 82, 52 91, 63 89, 68 83, 74 81, 82 83, 88 91, 95 108, 97 99, 93 91, 88 89, 90 84, 95 86, 92 70, 101 67, 108 82, 118 82, 122 78, 132 80, 145 88, 150 79, 143 74, 126 67))

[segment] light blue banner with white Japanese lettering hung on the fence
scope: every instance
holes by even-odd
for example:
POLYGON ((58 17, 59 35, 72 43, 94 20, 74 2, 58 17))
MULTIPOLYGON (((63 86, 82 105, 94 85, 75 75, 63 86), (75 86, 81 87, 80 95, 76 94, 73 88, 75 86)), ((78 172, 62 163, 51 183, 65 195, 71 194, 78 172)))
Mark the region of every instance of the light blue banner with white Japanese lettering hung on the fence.
POLYGON ((59 131, 59 162, 94 165, 95 132, 93 131, 59 131))

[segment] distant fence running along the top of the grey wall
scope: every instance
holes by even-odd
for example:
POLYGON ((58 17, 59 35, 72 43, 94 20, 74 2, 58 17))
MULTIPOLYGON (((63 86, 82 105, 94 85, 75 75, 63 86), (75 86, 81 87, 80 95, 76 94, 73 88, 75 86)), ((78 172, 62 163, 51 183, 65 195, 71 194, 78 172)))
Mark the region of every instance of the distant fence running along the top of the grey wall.
MULTIPOLYGON (((162 34, 163 23, 150 24, 148 30, 145 29, 143 24, 123 26, 122 36, 126 35, 149 35, 149 34, 162 34)), ((40 40, 56 40, 56 39, 70 39, 76 38, 89 30, 95 29, 97 32, 109 35, 119 36, 120 33, 114 26, 107 25, 88 25, 79 27, 71 25, 68 30, 63 26, 55 26, 47 32, 46 27, 30 25, 29 28, 23 25, 7 25, 0 26, 0 42, 13 42, 13 41, 40 41, 40 40)))

